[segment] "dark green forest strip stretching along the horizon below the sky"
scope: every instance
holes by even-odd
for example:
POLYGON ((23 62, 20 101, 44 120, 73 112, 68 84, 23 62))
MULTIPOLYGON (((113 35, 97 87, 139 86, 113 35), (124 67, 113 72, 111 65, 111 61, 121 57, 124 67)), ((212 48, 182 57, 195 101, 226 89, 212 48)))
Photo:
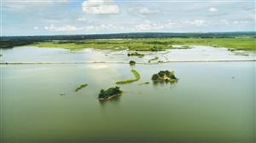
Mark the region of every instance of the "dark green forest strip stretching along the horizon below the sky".
MULTIPOLYGON (((171 33, 171 32, 141 32, 141 33, 117 33, 117 34, 90 34, 90 35, 53 35, 53 36, 14 36, 1 37, 0 49, 14 48, 31 43, 61 41, 73 42, 93 39, 137 39, 137 38, 235 38, 235 37, 253 37, 255 31, 235 31, 235 32, 198 32, 198 33, 171 33)), ((102 42, 102 44, 105 44, 102 42)), ((161 43, 154 43, 161 44, 161 43)))

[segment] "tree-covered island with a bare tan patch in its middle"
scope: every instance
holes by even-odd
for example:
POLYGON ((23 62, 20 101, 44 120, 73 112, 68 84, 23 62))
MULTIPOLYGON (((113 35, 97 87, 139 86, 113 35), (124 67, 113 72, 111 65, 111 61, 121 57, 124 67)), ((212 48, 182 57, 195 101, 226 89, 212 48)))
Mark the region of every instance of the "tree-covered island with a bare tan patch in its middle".
POLYGON ((158 73, 153 74, 151 79, 154 82, 170 82, 170 83, 177 83, 177 77, 174 76, 174 72, 170 72, 168 70, 166 71, 160 71, 158 73))

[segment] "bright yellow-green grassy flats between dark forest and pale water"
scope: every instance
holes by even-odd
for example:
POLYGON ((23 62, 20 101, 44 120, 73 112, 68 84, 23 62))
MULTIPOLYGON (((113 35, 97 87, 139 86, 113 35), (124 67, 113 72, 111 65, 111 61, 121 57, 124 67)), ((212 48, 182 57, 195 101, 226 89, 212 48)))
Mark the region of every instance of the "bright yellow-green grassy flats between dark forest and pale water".
POLYGON ((172 45, 202 45, 215 48, 224 47, 232 50, 256 51, 253 38, 168 38, 168 39, 124 39, 124 40, 84 40, 34 43, 30 46, 47 48, 79 49, 113 49, 130 51, 160 51, 172 49, 172 45))

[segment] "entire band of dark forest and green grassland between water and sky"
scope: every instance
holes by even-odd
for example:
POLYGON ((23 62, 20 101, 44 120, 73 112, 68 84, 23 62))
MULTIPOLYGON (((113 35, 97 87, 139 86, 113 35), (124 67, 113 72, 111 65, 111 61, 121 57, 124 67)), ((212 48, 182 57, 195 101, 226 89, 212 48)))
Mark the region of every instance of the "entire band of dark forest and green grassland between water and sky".
POLYGON ((172 49, 172 45, 212 45, 255 51, 255 31, 207 33, 116 33, 53 36, 1 37, 0 49, 33 45, 65 49, 113 49, 130 51, 159 51, 172 49), (109 40, 118 39, 119 40, 109 40), (103 40, 96 40, 103 39, 103 40))

